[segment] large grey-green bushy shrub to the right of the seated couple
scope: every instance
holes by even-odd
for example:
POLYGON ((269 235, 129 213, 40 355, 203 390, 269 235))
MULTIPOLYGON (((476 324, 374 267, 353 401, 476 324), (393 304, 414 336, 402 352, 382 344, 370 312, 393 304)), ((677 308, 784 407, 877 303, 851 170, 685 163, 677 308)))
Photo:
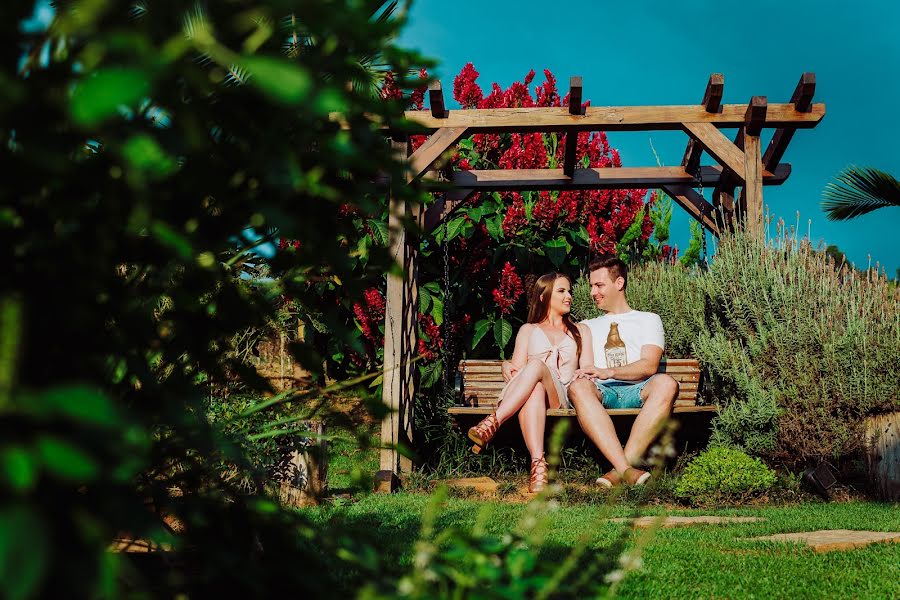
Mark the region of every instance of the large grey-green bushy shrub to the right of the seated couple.
POLYGON ((861 447, 867 415, 900 409, 900 293, 883 275, 836 271, 788 235, 738 234, 696 284, 717 441, 789 463, 836 458, 861 447))

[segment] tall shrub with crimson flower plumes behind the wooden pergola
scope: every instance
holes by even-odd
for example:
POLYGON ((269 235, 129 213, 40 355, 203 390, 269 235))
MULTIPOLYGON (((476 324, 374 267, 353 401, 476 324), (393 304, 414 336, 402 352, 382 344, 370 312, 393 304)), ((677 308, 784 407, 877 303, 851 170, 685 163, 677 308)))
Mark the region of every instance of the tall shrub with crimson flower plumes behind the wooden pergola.
MULTIPOLYGON (((560 96, 553 74, 548 70, 543 74, 539 85, 534 85, 535 72, 531 71, 506 89, 492 84, 485 95, 477 82, 478 72, 468 64, 453 82, 453 97, 463 110, 567 105, 568 97, 560 96)), ((426 77, 421 71, 422 85, 407 81, 404 91, 398 85, 400 78, 388 73, 382 97, 410 110, 422 110, 426 77)), ((453 168, 560 168, 566 137, 558 133, 473 135, 457 145, 453 168)), ((426 136, 413 136, 413 148, 425 139, 426 136)), ((610 146, 606 134, 581 132, 577 142, 579 167, 622 166, 619 153, 610 146)), ((648 248, 656 221, 651 218, 653 197, 645 202, 646 195, 646 190, 482 193, 451 215, 444 225, 423 236, 417 350, 423 359, 420 371, 424 384, 439 380, 446 352, 497 356, 508 350, 513 323, 525 317, 526 275, 555 269, 578 276, 592 256, 633 254, 635 249, 640 252, 648 248), (449 286, 443 282, 445 247, 449 286), (444 347, 447 327, 450 348, 444 347), (493 335, 488 336, 489 332, 493 335), (490 342, 484 342, 485 339, 490 342)), ((352 219, 359 233, 359 238, 348 240, 348 244, 359 249, 360 273, 365 269, 370 249, 386 247, 388 243, 386 202, 383 198, 376 202, 380 204, 375 214, 363 214, 352 205, 339 210, 341 218, 352 219)), ((662 257, 660 246, 653 246, 654 257, 673 260, 674 250, 667 250, 662 257)), ((378 287, 383 290, 384 284, 378 287)), ((369 289, 362 299, 350 300, 348 308, 348 318, 356 322, 360 331, 359 344, 347 351, 334 350, 330 355, 345 364, 356 364, 365 356, 367 367, 374 368, 382 356, 384 296, 377 289, 369 289)))

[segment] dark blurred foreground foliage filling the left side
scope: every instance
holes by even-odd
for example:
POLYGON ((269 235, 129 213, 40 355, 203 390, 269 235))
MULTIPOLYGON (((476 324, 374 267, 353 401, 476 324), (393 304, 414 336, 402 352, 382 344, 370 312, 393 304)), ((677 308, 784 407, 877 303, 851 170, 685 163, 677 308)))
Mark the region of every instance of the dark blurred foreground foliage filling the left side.
MULTIPOLYGON (((4 591, 324 595, 326 565, 356 560, 338 551, 352 536, 320 538, 263 486, 247 496, 258 457, 231 433, 274 439, 326 409, 245 419, 288 394, 210 424, 206 399, 234 382, 271 391, 236 340, 277 321, 285 296, 315 306, 309 330, 354 339, 320 292, 352 303, 390 263, 348 245, 357 229, 338 209, 370 210, 373 182, 405 180, 373 124, 403 127, 404 106, 356 84, 381 57, 408 87, 422 61, 394 44, 402 21, 376 16, 392 3, 55 2, 49 30, 26 31, 33 5, 7 2, 0 19, 4 591), (302 244, 247 282, 260 259, 245 240, 273 233, 302 244), (172 544, 184 568, 107 552, 123 533, 172 544)), ((312 345, 291 351, 321 370, 312 345)))

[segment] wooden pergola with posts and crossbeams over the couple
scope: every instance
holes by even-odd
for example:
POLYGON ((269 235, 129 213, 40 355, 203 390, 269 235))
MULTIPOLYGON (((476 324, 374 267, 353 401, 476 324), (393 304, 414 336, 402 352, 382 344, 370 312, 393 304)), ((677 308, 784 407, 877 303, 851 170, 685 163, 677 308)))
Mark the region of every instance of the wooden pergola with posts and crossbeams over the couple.
MULTIPOLYGON (((379 487, 392 489, 408 473, 411 461, 398 445, 413 441, 413 398, 416 393, 418 313, 418 246, 402 226, 412 219, 432 229, 451 215, 474 192, 523 190, 660 189, 713 235, 736 226, 763 235, 763 186, 780 185, 791 173, 781 163, 798 129, 811 129, 825 116, 824 104, 813 104, 815 75, 800 77, 789 102, 769 104, 766 96, 753 96, 748 104, 722 104, 724 77, 709 78, 703 100, 696 105, 582 107, 582 79, 572 77, 569 103, 564 107, 447 110, 440 82, 429 87, 430 110, 408 111, 406 119, 429 130, 431 136, 415 152, 409 141, 395 141, 395 151, 408 157, 407 182, 438 178, 442 157, 459 140, 476 133, 577 133, 582 131, 681 130, 688 135, 678 167, 576 168, 577 135, 566 136, 561 169, 503 169, 455 171, 449 174, 452 190, 428 211, 407 205, 392 194, 390 251, 402 265, 404 277, 389 276, 385 309, 384 403, 391 409, 381 427, 379 487), (723 129, 736 129, 733 140, 723 129), (774 129, 765 152, 763 129, 774 129), (701 166, 703 152, 715 163, 701 166), (712 189, 712 202, 695 188, 712 189), (737 190, 740 188, 740 193, 737 190)), ((396 185, 396 183, 394 184, 396 185)), ((446 367, 449 368, 449 365, 446 367)))

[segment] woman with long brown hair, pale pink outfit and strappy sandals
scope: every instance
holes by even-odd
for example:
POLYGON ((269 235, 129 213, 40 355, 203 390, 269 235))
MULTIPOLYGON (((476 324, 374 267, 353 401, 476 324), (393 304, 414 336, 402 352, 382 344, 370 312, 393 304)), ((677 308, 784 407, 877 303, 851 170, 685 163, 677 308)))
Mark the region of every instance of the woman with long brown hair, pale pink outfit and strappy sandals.
POLYGON ((561 273, 541 275, 529 296, 528 322, 519 329, 512 358, 504 362, 506 386, 494 414, 469 429, 474 452, 517 412, 531 453, 529 492, 547 485, 544 424, 548 408, 568 408, 567 389, 575 371, 594 365, 591 332, 570 314, 572 281, 561 273))

